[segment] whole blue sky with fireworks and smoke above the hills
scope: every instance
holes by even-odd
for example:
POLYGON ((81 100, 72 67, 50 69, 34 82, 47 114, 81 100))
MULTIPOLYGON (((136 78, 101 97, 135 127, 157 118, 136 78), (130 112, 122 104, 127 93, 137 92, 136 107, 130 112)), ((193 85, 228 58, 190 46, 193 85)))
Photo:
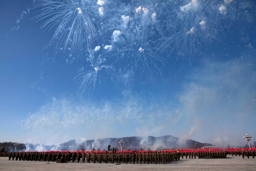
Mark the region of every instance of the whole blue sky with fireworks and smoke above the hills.
POLYGON ((55 20, 0 2, 0 141, 256 136, 253 1, 76 1, 55 20))

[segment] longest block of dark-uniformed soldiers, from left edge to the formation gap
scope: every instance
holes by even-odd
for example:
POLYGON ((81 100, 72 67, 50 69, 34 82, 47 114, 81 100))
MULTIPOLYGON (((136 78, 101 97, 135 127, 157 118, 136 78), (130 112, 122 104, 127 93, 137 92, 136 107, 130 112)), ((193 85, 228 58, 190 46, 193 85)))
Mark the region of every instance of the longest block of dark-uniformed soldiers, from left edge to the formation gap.
POLYGON ((27 161, 56 161, 63 159, 67 162, 84 162, 88 163, 105 162, 105 163, 170 163, 180 160, 179 152, 132 152, 132 153, 48 153, 48 152, 3 152, 3 157, 9 157, 9 160, 27 160, 27 161))

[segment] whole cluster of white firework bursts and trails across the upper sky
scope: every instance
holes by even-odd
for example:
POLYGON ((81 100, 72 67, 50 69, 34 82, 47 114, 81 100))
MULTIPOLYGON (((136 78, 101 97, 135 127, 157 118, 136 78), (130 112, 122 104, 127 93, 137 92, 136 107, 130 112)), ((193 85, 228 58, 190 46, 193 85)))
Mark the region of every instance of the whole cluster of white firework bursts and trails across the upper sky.
POLYGON ((94 48, 86 50, 90 67, 75 78, 80 93, 95 88, 101 69, 118 68, 117 77, 128 75, 131 84, 134 78, 151 83, 170 78, 179 62, 202 58, 204 51, 225 44, 227 30, 235 34, 244 29, 245 21, 255 20, 250 14, 255 9, 248 12, 246 1, 235 0, 36 3, 34 19, 43 20, 46 30, 57 27, 52 39, 57 38, 59 46, 73 51, 83 51, 85 44, 94 48), (97 59, 94 52, 99 54, 97 59))

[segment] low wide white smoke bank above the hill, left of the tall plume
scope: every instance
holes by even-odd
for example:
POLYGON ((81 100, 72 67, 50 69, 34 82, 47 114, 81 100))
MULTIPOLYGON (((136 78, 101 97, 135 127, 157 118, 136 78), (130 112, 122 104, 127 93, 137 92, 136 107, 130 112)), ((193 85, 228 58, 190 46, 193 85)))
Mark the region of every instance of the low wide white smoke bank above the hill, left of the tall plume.
MULTIPOLYGON (((170 106, 158 109, 156 106, 161 105, 159 101, 157 105, 155 102, 148 105, 140 96, 133 96, 129 92, 124 92, 123 97, 121 98, 124 100, 102 101, 100 105, 91 102, 72 103, 71 100, 53 98, 50 103, 20 121, 24 139, 31 138, 30 142, 33 143, 57 144, 70 139, 81 139, 84 131, 87 139, 113 137, 112 132, 116 133, 116 137, 122 137, 123 130, 117 129, 121 125, 133 133, 136 133, 133 124, 140 125, 141 130, 146 132, 146 125, 158 125, 156 119, 168 120, 168 125, 175 125, 172 120, 175 120, 177 114, 172 114, 170 106), (133 124, 131 119, 135 121, 133 124)), ((163 102, 164 106, 165 103, 163 102)), ((164 125, 162 122, 161 126, 164 125)), ((150 132, 157 136, 159 130, 162 129, 152 129, 150 132)))

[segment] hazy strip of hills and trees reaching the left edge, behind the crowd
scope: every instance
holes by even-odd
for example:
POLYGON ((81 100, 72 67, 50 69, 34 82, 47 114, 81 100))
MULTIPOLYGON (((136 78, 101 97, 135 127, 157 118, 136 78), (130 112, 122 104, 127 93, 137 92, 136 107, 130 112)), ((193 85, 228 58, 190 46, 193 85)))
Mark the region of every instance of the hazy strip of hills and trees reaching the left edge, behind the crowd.
MULTIPOLYGON (((124 141, 124 150, 160 150, 161 148, 190 148, 196 149, 203 146, 212 146, 208 143, 200 143, 192 139, 179 139, 171 135, 165 135, 162 137, 122 137, 122 138, 103 138, 103 139, 90 139, 85 141, 69 140, 60 145, 46 146, 43 144, 19 144, 16 151, 29 150, 29 151, 74 151, 74 150, 103 150, 108 149, 108 145, 111 145, 111 149, 114 147, 116 150, 120 150, 118 142, 124 141)), ((13 142, 0 143, 0 150, 2 148, 5 151, 14 151, 13 142)))

